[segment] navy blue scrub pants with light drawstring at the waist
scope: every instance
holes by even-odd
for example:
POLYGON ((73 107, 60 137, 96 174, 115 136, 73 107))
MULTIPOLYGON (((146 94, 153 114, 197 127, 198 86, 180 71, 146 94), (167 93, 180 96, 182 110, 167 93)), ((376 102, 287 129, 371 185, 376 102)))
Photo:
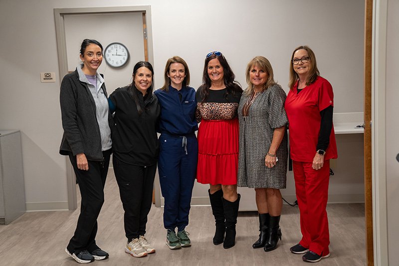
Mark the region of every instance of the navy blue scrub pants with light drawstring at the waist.
POLYGON ((164 227, 178 232, 189 224, 191 196, 197 172, 198 141, 195 134, 162 133, 158 172, 165 199, 164 227))

